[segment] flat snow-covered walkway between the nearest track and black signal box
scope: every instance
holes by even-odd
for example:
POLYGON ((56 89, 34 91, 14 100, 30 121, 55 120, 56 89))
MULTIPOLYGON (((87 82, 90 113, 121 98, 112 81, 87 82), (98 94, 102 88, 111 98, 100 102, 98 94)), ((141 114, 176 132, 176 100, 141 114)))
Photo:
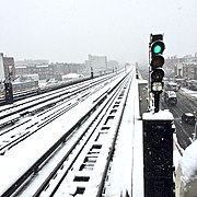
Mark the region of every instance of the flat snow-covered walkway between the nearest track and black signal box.
MULTIPOLYGON (((142 80, 138 81, 142 83, 142 80)), ((144 81, 143 81, 144 82, 144 81)), ((137 81, 131 84, 123 115, 105 196, 143 196, 142 123, 137 81)))

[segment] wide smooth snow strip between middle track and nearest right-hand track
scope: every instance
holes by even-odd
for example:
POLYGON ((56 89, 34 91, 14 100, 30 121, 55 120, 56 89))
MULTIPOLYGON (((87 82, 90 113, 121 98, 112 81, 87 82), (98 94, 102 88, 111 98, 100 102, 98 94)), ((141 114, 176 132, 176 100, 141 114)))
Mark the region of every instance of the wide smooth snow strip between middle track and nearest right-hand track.
POLYGON ((35 132, 31 138, 7 151, 0 157, 0 194, 2 194, 18 177, 24 173, 35 160, 40 158, 47 149, 51 147, 66 130, 69 130, 78 119, 80 119, 92 107, 96 97, 103 95, 108 86, 106 85, 100 92, 90 99, 77 105, 74 108, 59 117, 57 120, 42 128, 42 131, 35 132), (73 118, 74 117, 74 118, 73 118), (44 141, 44 139, 47 140, 44 141))

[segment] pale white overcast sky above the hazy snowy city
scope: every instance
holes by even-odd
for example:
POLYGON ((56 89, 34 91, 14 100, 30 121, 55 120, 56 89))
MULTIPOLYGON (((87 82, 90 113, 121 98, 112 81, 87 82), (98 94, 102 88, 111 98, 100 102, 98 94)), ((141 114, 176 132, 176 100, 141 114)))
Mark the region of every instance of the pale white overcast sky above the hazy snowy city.
POLYGON ((0 51, 15 60, 147 62, 150 33, 165 57, 197 51, 197 0, 0 0, 0 51))

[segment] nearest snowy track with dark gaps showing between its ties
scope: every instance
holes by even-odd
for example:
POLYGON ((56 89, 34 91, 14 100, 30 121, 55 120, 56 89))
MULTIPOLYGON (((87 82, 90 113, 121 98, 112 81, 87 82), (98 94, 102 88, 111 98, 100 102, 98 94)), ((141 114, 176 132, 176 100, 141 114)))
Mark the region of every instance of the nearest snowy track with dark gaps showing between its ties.
MULTIPOLYGON (((127 74, 86 99, 92 101, 90 108, 4 189, 2 197, 102 196, 130 82, 131 74, 127 74)), ((80 100, 85 104, 85 97, 80 100)))

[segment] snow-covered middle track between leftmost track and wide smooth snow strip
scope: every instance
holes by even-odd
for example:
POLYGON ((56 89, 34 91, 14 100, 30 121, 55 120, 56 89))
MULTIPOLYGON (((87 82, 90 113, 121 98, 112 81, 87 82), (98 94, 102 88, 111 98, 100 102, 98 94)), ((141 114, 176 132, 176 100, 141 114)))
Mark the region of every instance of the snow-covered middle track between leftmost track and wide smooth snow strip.
POLYGON ((67 113, 86 97, 101 90, 104 85, 114 81, 116 78, 117 77, 111 80, 96 80, 91 84, 81 84, 69 89, 71 93, 68 92, 68 90, 61 91, 60 94, 58 93, 58 95, 46 96, 47 99, 44 97, 42 101, 38 100, 35 102, 33 99, 33 104, 24 102, 22 107, 19 105, 20 109, 19 106, 15 106, 18 109, 11 108, 9 113, 2 111, 1 116, 5 116, 3 119, 1 119, 1 123, 3 121, 3 126, 5 123, 10 124, 8 118, 11 118, 11 120, 14 120, 15 123, 21 118, 21 116, 24 116, 24 114, 30 116, 24 120, 20 120, 20 123, 14 124, 12 127, 0 131, 0 154, 4 154, 9 149, 38 131, 45 125, 55 120, 62 114, 67 113), (20 114, 13 114, 14 112, 20 114))

